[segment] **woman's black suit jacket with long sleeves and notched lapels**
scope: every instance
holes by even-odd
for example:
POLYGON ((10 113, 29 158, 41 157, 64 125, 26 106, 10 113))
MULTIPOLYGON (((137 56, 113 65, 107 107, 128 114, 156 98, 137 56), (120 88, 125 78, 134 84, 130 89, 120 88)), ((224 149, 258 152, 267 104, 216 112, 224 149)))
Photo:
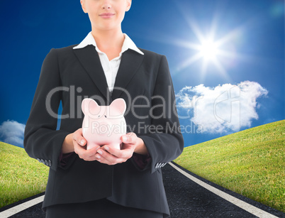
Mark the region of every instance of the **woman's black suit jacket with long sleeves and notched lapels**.
POLYGON ((125 51, 115 88, 109 93, 94 46, 76 50, 74 46, 47 54, 26 124, 26 152, 50 166, 43 208, 106 197, 120 205, 169 214, 161 167, 181 154, 184 141, 166 58, 143 49, 145 55, 125 51), (143 139, 151 157, 144 169, 138 168, 133 157, 106 165, 72 153, 65 165, 60 163, 65 136, 82 127, 80 106, 86 97, 100 105, 125 99, 128 131, 143 139), (57 129, 60 102, 62 119, 57 129))

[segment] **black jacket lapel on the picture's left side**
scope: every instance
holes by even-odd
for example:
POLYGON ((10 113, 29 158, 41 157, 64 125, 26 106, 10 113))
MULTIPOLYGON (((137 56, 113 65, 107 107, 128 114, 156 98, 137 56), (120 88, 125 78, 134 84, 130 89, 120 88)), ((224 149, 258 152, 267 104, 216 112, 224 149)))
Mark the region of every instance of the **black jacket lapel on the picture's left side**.
POLYGON ((94 45, 87 45, 84 48, 74 49, 74 53, 77 55, 79 62, 82 63, 82 66, 89 74, 96 87, 98 87, 106 99, 110 99, 104 70, 94 45))

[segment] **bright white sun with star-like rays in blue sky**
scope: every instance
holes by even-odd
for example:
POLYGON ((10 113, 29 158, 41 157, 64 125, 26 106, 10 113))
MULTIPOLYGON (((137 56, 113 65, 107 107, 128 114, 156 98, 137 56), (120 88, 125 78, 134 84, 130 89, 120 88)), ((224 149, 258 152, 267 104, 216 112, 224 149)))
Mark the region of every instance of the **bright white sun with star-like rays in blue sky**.
POLYGON ((225 80, 230 81, 230 76, 225 69, 225 65, 229 65, 230 62, 233 62, 239 57, 238 53, 235 52, 235 45, 233 45, 233 42, 242 34, 242 27, 235 28, 232 31, 225 33, 224 36, 217 38, 216 27, 218 25, 215 24, 215 22, 206 34, 202 33, 201 28, 196 22, 188 20, 188 23, 191 32, 194 33, 198 42, 191 43, 191 41, 181 39, 174 40, 176 45, 179 45, 184 49, 189 49, 192 53, 192 55, 179 63, 177 72, 184 70, 186 67, 189 67, 199 60, 202 60, 201 71, 199 73, 202 80, 206 77, 207 73, 218 72, 218 74, 224 77, 225 80), (230 50, 228 48, 230 48, 230 50), (211 67, 209 67, 210 65, 211 67))

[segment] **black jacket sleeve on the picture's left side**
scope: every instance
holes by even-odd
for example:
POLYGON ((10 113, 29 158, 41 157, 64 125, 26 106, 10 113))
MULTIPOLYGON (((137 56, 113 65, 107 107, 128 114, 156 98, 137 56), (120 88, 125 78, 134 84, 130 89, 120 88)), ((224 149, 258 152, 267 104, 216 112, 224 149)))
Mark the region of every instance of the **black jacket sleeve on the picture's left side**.
POLYGON ((53 170, 60 166, 62 143, 68 134, 67 131, 57 130, 60 86, 57 50, 52 49, 47 54, 40 72, 38 87, 26 123, 24 148, 31 158, 38 159, 53 170))

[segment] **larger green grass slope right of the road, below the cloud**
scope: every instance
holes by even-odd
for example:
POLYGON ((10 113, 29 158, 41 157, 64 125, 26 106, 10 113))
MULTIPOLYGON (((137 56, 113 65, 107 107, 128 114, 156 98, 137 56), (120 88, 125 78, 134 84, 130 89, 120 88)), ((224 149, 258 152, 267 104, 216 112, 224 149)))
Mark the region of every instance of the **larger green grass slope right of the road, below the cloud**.
POLYGON ((285 212, 285 121, 184 148, 183 168, 285 212))

